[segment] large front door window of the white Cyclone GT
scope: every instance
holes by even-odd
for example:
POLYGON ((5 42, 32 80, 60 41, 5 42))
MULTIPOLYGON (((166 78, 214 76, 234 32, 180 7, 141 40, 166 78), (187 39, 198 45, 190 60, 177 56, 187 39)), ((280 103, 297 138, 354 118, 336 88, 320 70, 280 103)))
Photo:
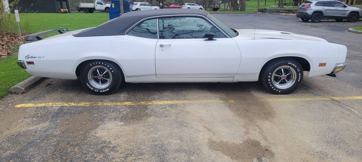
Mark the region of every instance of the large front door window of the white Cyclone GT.
POLYGON ((199 17, 159 18, 159 39, 197 39, 206 32, 215 33, 214 38, 226 38, 215 26, 199 17))

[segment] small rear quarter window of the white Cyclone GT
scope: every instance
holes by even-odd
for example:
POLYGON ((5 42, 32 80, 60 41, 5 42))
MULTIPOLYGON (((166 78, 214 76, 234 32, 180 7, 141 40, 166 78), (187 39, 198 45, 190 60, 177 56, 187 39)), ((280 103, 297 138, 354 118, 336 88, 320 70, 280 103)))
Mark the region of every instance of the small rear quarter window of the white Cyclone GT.
POLYGON ((127 34, 136 37, 157 39, 157 20, 145 20, 132 28, 127 34))

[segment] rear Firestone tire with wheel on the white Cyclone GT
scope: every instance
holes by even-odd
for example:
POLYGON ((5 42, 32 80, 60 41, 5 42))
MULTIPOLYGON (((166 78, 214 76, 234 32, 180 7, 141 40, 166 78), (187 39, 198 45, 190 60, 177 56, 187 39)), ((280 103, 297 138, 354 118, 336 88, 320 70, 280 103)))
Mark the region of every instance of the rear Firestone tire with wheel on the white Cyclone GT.
POLYGON ((80 70, 80 80, 90 93, 109 95, 118 89, 122 82, 122 72, 117 64, 108 60, 92 60, 80 70))

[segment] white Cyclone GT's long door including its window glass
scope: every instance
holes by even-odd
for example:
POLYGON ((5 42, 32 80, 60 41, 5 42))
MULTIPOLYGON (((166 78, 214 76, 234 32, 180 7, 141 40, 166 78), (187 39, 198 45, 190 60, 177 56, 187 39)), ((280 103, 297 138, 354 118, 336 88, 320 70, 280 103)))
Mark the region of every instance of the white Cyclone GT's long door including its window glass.
POLYGON ((241 60, 232 38, 201 17, 166 17, 158 22, 156 77, 228 77, 219 80, 232 81, 241 60), (206 41, 206 32, 215 33, 216 40, 206 41))

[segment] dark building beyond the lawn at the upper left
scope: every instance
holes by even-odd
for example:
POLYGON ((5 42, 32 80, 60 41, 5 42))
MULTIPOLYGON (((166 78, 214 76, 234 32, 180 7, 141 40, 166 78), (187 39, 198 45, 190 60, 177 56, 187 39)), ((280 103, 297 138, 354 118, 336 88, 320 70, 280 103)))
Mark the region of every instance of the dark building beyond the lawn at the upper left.
MULTIPOLYGON (((9 4, 13 1, 9 0, 9 4)), ((20 0, 18 4, 13 7, 10 6, 10 8, 18 9, 21 13, 64 13, 70 11, 69 0, 20 0)))

